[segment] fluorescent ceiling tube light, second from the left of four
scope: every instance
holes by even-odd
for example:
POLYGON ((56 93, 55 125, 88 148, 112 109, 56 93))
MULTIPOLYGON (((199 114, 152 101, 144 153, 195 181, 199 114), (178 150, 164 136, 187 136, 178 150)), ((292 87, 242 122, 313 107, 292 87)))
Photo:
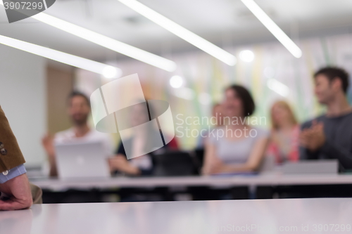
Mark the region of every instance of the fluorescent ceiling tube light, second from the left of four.
MULTIPOLYGON (((0 4, 4 5, 2 0, 0 0, 0 4)), ((47 15, 46 13, 38 13, 37 15, 33 15, 32 18, 39 20, 41 22, 44 22, 47 25, 56 27, 59 30, 63 30, 65 32, 73 34, 77 37, 81 37, 82 39, 86 39, 87 41, 91 41, 95 44, 109 48, 118 53, 122 53, 125 56, 129 56, 131 58, 140 60, 144 63, 148 63, 155 67, 159 67, 168 72, 173 72, 176 70, 177 65, 175 62, 171 60, 168 60, 161 56, 156 56, 153 53, 143 51, 140 48, 130 46, 121 41, 117 41, 110 37, 106 37, 102 34, 93 32, 91 30, 87 30, 84 27, 74 25, 73 23, 67 22, 65 20, 61 20, 51 15, 47 15)))

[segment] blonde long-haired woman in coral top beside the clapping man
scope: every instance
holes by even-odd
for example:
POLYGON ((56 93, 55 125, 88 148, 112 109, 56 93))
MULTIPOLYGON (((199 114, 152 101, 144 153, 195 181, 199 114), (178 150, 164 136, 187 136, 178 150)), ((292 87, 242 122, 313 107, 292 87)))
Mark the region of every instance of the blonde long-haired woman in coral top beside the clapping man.
POLYGON ((267 156, 275 157, 277 164, 299 160, 299 125, 289 104, 279 100, 271 108, 272 131, 267 156))

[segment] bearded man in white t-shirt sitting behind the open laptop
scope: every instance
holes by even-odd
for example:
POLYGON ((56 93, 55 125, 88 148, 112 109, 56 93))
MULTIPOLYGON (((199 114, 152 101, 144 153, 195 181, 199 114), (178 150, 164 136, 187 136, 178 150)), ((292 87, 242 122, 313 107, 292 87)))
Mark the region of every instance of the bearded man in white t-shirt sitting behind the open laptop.
POLYGON ((103 134, 88 126, 87 119, 91 112, 89 98, 83 93, 73 91, 68 96, 68 114, 73 122, 73 127, 60 131, 55 136, 47 134, 42 143, 49 157, 49 174, 57 176, 55 143, 87 143, 101 141, 106 150, 106 155, 111 156, 113 142, 108 134, 103 134))

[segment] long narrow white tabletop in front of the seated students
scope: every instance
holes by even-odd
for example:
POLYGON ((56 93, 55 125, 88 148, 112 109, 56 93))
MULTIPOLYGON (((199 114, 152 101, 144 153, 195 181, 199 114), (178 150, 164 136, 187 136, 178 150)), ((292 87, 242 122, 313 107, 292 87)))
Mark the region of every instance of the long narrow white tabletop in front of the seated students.
POLYGON ((49 190, 69 188, 148 188, 156 186, 291 186, 352 184, 352 175, 280 175, 258 176, 187 176, 151 178, 71 178, 71 179, 31 179, 35 185, 49 190))

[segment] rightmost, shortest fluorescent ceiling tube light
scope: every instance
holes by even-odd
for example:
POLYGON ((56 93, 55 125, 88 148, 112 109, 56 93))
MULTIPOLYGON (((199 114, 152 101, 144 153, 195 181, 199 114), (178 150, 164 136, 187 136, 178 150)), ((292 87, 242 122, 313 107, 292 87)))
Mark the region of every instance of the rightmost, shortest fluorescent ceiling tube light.
POLYGON ((244 5, 246 5, 247 8, 249 8, 249 11, 251 11, 254 15, 256 15, 256 18, 260 22, 263 23, 263 25, 284 45, 289 52, 292 53, 292 55, 296 58, 301 58, 302 56, 302 51, 301 49, 294 44, 294 41, 292 41, 287 34, 282 31, 277 24, 275 24, 272 19, 263 11, 258 4, 256 4, 255 1, 253 0, 241 0, 244 5))

